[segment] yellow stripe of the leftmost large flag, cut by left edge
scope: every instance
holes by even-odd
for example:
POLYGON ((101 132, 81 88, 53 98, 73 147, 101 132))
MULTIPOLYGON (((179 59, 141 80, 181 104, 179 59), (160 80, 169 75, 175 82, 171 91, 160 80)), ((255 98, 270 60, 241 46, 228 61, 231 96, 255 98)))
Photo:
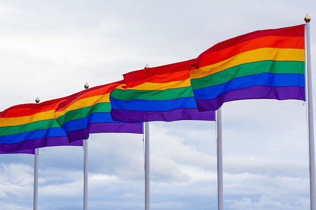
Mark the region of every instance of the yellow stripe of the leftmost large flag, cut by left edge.
POLYGON ((30 116, 15 117, 15 118, 0 118, 0 127, 22 125, 30 122, 40 120, 54 119, 55 110, 49 110, 46 112, 36 113, 30 116))

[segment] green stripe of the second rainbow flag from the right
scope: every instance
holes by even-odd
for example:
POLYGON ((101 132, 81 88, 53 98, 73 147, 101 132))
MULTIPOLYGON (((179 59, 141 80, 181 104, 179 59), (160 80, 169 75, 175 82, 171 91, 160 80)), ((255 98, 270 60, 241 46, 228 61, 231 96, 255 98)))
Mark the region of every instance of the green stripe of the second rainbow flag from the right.
POLYGON ((184 97, 194 97, 191 86, 167 90, 112 90, 110 97, 119 100, 172 100, 184 97))

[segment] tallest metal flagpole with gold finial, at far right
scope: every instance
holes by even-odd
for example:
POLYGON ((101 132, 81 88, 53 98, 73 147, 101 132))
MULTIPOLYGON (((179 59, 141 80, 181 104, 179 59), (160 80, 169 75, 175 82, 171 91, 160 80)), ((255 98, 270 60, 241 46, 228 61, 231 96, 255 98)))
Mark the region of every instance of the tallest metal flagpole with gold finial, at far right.
POLYGON ((315 146, 314 146, 314 116, 313 116, 313 91, 312 91, 312 65, 311 65, 311 42, 310 42, 310 16, 304 18, 306 30, 306 61, 307 61, 307 104, 308 104, 308 140, 310 162, 310 193, 311 210, 316 210, 316 179, 315 179, 315 146))

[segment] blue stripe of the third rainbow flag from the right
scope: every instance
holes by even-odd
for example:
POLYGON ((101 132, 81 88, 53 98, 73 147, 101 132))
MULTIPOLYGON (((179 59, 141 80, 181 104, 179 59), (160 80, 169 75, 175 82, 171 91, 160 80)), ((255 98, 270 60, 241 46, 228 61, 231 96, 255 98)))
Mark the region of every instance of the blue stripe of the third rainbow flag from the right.
MULTIPOLYGON (((70 120, 62 124, 62 128, 68 133, 73 130, 81 130, 88 127, 90 123, 106 123, 106 122, 119 122, 112 120, 111 113, 92 113, 89 116, 77 120, 70 120)), ((142 122, 137 122, 142 123, 142 122)), ((123 126, 124 124, 122 124, 123 126)))

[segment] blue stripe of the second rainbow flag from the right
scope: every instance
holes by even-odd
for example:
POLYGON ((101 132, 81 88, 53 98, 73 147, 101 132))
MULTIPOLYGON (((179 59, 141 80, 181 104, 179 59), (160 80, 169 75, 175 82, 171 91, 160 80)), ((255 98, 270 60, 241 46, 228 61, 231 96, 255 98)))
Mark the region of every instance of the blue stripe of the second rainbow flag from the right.
POLYGON ((166 112, 175 109, 197 109, 194 97, 184 97, 172 100, 118 100, 111 98, 111 108, 127 111, 166 112))

